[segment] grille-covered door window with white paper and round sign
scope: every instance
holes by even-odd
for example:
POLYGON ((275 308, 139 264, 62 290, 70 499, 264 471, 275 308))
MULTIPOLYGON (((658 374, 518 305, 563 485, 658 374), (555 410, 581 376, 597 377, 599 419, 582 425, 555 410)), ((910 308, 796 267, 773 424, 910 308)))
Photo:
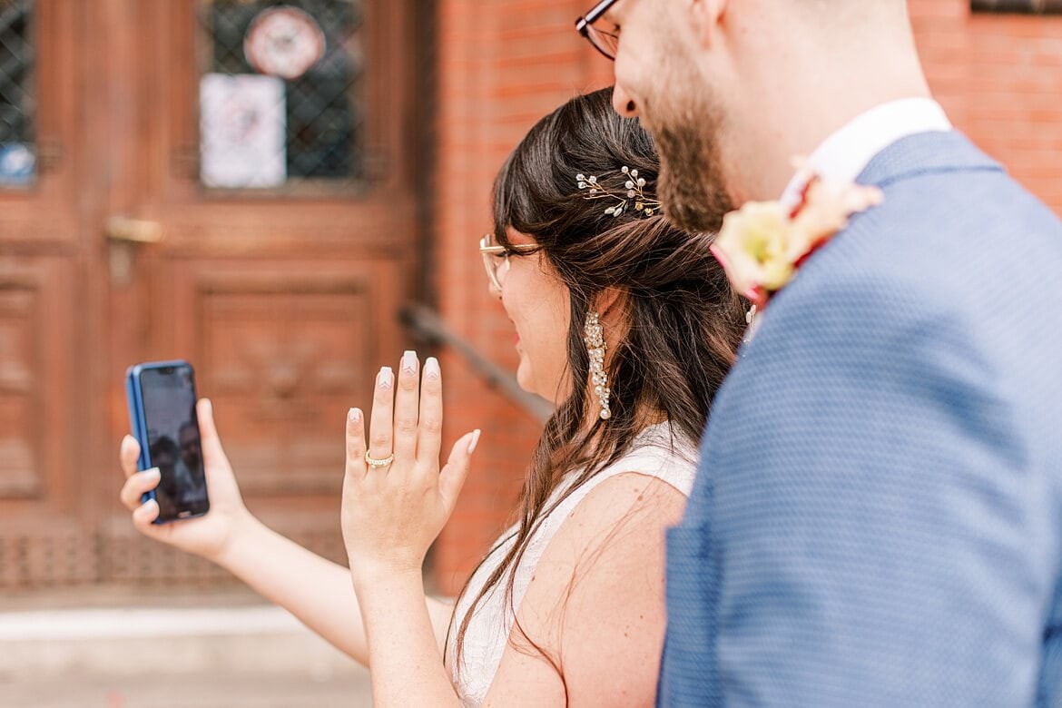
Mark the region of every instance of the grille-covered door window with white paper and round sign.
POLYGON ((200 22, 201 183, 310 195, 358 185, 360 2, 204 0, 200 22))

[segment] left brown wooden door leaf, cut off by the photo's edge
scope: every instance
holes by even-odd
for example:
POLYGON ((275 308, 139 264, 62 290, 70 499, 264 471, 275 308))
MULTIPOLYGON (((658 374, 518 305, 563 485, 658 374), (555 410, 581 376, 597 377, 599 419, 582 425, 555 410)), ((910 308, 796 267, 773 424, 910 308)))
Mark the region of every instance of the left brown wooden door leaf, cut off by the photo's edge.
POLYGON ((78 14, 0 0, 0 587, 99 574, 92 416, 74 413, 89 402, 96 362, 82 345, 102 310, 84 281, 95 195, 79 193, 91 125, 74 111, 78 14))

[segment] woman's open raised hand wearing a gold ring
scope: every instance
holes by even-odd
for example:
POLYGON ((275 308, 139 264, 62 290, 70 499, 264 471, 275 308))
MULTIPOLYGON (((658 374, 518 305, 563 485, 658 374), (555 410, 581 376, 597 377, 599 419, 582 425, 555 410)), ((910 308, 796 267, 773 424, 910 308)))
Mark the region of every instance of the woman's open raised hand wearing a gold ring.
POLYGON ((443 381, 429 358, 419 375, 407 351, 397 380, 389 367, 376 377, 369 446, 364 416, 350 409, 346 421, 343 540, 350 570, 359 575, 419 572, 428 547, 453 511, 468 473, 479 431, 466 433, 440 469, 443 381))

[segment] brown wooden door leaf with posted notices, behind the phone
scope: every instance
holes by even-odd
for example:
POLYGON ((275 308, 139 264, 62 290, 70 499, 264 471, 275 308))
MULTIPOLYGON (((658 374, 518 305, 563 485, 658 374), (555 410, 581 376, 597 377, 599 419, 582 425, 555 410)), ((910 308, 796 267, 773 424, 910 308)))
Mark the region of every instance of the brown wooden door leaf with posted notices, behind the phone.
MULTIPOLYGON (((116 349, 191 360, 252 511, 344 558, 344 418, 400 353, 414 284, 405 3, 112 2, 136 57, 112 217, 160 236, 110 246, 116 349)), ((125 517, 104 524, 109 580, 219 576, 125 517)))

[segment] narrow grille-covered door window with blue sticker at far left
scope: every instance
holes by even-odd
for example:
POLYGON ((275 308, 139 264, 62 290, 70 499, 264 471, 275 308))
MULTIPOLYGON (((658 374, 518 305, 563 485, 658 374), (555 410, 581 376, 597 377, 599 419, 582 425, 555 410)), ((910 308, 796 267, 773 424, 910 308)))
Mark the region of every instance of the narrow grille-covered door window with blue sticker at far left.
POLYGON ((33 0, 0 0, 0 189, 36 175, 33 0))

